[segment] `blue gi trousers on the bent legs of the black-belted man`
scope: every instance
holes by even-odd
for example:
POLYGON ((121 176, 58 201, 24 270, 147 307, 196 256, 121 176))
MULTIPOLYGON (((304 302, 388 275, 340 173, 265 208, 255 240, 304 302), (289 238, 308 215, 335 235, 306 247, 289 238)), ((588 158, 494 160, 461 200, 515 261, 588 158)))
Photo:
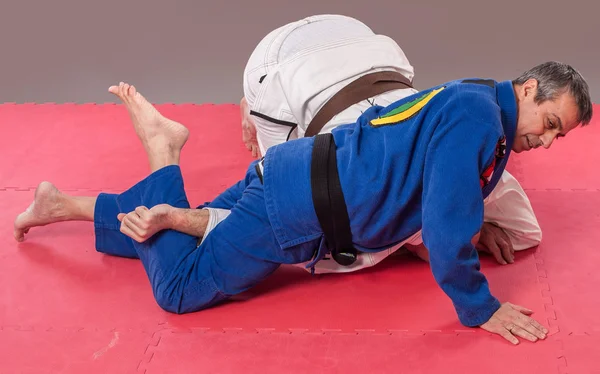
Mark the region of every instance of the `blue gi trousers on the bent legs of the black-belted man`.
POLYGON ((230 209, 231 214, 200 246, 198 238, 174 230, 161 231, 143 243, 120 232, 117 215, 138 206, 190 208, 179 166, 159 169, 122 194, 100 194, 94 213, 96 249, 139 258, 158 305, 173 313, 208 308, 256 285, 280 264, 309 261, 321 240, 280 247, 255 164, 250 165, 245 179, 210 204, 230 209))

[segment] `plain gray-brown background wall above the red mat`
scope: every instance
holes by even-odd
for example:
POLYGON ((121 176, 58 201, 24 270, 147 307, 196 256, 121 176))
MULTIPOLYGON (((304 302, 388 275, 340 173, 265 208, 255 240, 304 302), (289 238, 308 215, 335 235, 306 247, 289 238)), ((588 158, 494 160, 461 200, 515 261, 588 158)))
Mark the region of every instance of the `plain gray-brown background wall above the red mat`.
POLYGON ((510 79, 572 64, 600 101, 600 5, 592 0, 3 1, 0 102, 114 102, 113 82, 155 103, 238 103, 246 59, 270 30, 320 13, 356 17, 398 41, 417 88, 510 79))

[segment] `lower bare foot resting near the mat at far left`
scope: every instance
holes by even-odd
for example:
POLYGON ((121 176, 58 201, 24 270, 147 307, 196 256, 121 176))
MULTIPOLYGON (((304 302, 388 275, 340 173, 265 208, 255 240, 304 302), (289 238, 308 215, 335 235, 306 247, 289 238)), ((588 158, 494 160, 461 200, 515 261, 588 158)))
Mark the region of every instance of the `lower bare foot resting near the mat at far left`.
POLYGON ((15 240, 22 242, 30 228, 63 221, 66 216, 60 191, 52 183, 42 182, 35 190, 33 203, 15 219, 15 240))

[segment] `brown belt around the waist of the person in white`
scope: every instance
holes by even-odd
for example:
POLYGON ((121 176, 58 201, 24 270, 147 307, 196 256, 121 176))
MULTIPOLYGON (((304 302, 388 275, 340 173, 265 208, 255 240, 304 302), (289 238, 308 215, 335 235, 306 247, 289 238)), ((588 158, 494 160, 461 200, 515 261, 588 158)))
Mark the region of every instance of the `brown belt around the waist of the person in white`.
POLYGON ((317 135, 333 116, 341 113, 356 103, 384 92, 404 88, 413 88, 412 82, 404 75, 395 71, 380 71, 363 75, 339 90, 327 103, 325 103, 312 121, 310 121, 304 136, 310 137, 317 135))

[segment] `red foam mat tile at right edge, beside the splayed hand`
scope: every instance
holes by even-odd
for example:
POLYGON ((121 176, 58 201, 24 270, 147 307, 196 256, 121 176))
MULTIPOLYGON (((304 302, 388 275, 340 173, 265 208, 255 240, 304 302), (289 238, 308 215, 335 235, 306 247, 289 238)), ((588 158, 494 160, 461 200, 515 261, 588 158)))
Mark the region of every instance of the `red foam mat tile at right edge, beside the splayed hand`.
POLYGON ((600 192, 529 196, 544 229, 536 258, 550 317, 567 334, 600 333, 600 192))

